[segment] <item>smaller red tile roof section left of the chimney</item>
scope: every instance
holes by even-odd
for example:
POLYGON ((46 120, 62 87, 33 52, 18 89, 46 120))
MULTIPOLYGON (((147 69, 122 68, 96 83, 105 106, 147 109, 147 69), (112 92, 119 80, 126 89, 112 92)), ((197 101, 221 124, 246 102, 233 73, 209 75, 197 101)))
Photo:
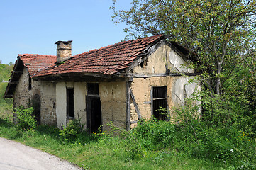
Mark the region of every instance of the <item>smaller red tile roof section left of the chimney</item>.
POLYGON ((28 69, 30 77, 33 77, 43 69, 50 67, 56 62, 56 56, 54 55, 34 55, 34 54, 23 54, 18 55, 21 58, 24 66, 28 69))

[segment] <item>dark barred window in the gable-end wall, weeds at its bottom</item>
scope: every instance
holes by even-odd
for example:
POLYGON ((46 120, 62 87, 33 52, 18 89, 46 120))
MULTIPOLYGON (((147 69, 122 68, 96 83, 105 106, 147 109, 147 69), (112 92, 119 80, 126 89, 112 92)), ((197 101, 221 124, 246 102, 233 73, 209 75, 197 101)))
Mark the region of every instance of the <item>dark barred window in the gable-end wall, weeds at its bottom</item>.
POLYGON ((167 86, 152 87, 152 108, 154 118, 167 120, 167 86))

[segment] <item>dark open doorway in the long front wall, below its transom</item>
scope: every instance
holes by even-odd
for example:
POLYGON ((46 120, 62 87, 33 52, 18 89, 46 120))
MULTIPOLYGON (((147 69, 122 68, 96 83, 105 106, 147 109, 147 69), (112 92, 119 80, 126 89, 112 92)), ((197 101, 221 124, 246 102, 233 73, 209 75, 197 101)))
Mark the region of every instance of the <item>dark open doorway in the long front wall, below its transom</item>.
POLYGON ((87 129, 90 132, 101 132, 101 100, 96 96, 87 96, 87 129))

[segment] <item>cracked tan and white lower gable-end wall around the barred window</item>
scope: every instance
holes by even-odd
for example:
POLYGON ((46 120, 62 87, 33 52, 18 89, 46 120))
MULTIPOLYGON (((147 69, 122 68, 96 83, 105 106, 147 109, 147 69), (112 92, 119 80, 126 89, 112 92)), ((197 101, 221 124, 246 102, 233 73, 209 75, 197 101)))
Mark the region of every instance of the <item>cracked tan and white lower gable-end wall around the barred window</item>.
MULTIPOLYGON (((138 103, 140 114, 143 118, 152 118, 152 87, 167 86, 167 103, 168 109, 184 105, 185 98, 191 98, 196 89, 199 89, 199 84, 190 83, 189 80, 194 77, 149 77, 149 78, 134 78, 131 84, 131 90, 135 96, 135 101, 138 103)), ((172 113, 170 113, 172 118, 172 113)), ((138 115, 135 112, 133 102, 130 102, 130 120, 138 120, 138 115)), ((133 127, 133 126, 131 126, 133 127)))

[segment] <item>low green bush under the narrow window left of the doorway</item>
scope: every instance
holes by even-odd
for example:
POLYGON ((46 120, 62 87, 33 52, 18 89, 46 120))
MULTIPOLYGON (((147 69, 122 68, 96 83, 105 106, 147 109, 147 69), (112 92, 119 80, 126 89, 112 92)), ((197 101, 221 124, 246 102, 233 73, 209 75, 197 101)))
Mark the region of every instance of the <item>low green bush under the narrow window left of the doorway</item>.
POLYGON ((74 141, 77 139, 77 136, 82 132, 84 125, 80 120, 74 119, 69 121, 67 126, 60 130, 60 137, 66 141, 74 141))

